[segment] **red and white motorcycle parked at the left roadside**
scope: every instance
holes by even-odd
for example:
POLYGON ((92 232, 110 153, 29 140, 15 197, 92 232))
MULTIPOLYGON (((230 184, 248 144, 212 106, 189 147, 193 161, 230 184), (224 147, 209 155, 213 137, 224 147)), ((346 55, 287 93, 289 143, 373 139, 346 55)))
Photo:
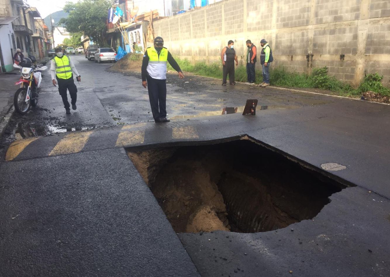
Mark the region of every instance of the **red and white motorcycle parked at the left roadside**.
POLYGON ((42 73, 40 71, 48 68, 46 65, 31 66, 21 67, 20 65, 14 64, 14 68, 20 69, 21 73, 19 81, 15 82, 15 85, 20 85, 20 88, 14 95, 14 107, 21 115, 27 113, 30 106, 37 106, 42 81, 42 73))

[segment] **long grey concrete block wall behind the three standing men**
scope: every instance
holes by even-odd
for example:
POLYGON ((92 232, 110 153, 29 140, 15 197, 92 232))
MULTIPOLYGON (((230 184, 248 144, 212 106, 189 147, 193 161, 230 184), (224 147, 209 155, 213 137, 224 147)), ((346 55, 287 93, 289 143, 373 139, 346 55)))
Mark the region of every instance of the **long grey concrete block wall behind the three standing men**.
MULTIPOLYGON (((232 39, 245 64, 250 39, 266 39, 273 66, 328 73, 351 85, 364 74, 390 86, 390 0, 225 0, 153 23, 173 55, 216 62, 232 39)), ((257 63, 260 68, 260 63, 257 63)))

